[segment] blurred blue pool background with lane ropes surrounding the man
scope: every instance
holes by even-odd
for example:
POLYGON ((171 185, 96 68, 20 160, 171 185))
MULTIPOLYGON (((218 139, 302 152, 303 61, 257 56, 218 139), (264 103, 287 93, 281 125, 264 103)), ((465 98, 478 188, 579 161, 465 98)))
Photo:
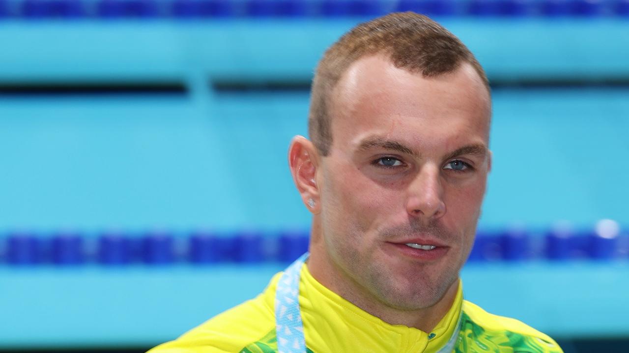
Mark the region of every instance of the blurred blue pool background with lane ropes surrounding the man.
POLYGON ((303 253, 325 48, 412 10, 493 89, 465 297, 629 351, 629 0, 0 0, 0 351, 143 352, 303 253))

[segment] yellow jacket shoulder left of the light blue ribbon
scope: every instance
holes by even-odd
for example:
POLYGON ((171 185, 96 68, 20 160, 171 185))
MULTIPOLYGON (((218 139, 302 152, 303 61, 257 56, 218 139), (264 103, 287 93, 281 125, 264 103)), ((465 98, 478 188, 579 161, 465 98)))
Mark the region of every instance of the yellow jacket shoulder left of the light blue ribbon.
POLYGON ((148 353, 257 353, 267 352, 275 338, 274 293, 276 274, 263 293, 220 313, 178 339, 148 353), (257 349, 259 348, 259 349, 257 349))

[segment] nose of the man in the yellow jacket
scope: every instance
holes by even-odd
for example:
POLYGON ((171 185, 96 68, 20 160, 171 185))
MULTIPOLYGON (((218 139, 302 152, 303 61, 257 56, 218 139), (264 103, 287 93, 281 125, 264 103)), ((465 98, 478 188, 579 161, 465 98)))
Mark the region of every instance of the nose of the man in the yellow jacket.
POLYGON ((413 217, 424 220, 445 215, 443 188, 438 166, 425 165, 409 184, 406 209, 413 217))

